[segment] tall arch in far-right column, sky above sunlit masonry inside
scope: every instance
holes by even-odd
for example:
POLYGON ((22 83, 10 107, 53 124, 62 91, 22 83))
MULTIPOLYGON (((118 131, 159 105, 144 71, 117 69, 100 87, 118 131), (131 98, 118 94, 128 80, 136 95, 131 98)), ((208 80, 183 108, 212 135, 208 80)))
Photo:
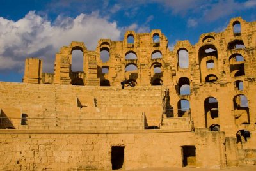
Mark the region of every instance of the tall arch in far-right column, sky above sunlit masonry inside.
POLYGON ((236 124, 250 124, 248 100, 244 94, 234 97, 234 117, 236 124))

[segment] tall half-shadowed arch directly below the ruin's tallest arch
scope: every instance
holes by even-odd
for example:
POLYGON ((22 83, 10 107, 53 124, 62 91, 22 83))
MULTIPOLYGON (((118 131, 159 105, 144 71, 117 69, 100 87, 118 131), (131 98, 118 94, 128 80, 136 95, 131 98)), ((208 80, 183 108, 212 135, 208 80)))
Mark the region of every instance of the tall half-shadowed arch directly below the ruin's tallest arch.
POLYGON ((204 100, 205 127, 219 123, 219 108, 216 98, 209 97, 204 100))

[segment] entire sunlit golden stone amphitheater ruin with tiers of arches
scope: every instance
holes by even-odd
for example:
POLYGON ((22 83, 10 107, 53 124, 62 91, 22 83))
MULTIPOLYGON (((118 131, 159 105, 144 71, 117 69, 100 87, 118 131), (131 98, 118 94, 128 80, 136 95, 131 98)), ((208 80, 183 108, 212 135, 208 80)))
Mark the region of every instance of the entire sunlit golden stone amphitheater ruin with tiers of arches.
POLYGON ((0 170, 256 164, 256 22, 231 19, 172 51, 158 29, 95 51, 73 41, 54 73, 42 66, 28 58, 22 83, 0 82, 0 170))

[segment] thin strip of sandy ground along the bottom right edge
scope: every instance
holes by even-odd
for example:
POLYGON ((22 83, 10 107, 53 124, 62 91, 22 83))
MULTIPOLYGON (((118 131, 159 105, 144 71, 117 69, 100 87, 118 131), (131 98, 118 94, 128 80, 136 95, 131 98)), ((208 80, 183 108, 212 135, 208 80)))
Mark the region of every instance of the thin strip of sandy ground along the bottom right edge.
POLYGON ((214 169, 214 168, 143 168, 131 171, 256 171, 256 165, 240 165, 240 167, 226 168, 226 169, 214 169))

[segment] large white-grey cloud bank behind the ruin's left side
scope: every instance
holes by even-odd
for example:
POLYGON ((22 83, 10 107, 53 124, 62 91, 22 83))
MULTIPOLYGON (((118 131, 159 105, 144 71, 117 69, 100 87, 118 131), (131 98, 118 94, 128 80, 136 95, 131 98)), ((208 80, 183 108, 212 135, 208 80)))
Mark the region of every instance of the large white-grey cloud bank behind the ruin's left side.
POLYGON ((44 71, 52 71, 56 52, 71 41, 83 41, 88 50, 95 50, 100 38, 120 40, 120 35, 116 22, 98 13, 74 19, 58 16, 52 23, 35 11, 17 22, 0 17, 0 70, 23 70, 26 57, 40 57, 44 71))

